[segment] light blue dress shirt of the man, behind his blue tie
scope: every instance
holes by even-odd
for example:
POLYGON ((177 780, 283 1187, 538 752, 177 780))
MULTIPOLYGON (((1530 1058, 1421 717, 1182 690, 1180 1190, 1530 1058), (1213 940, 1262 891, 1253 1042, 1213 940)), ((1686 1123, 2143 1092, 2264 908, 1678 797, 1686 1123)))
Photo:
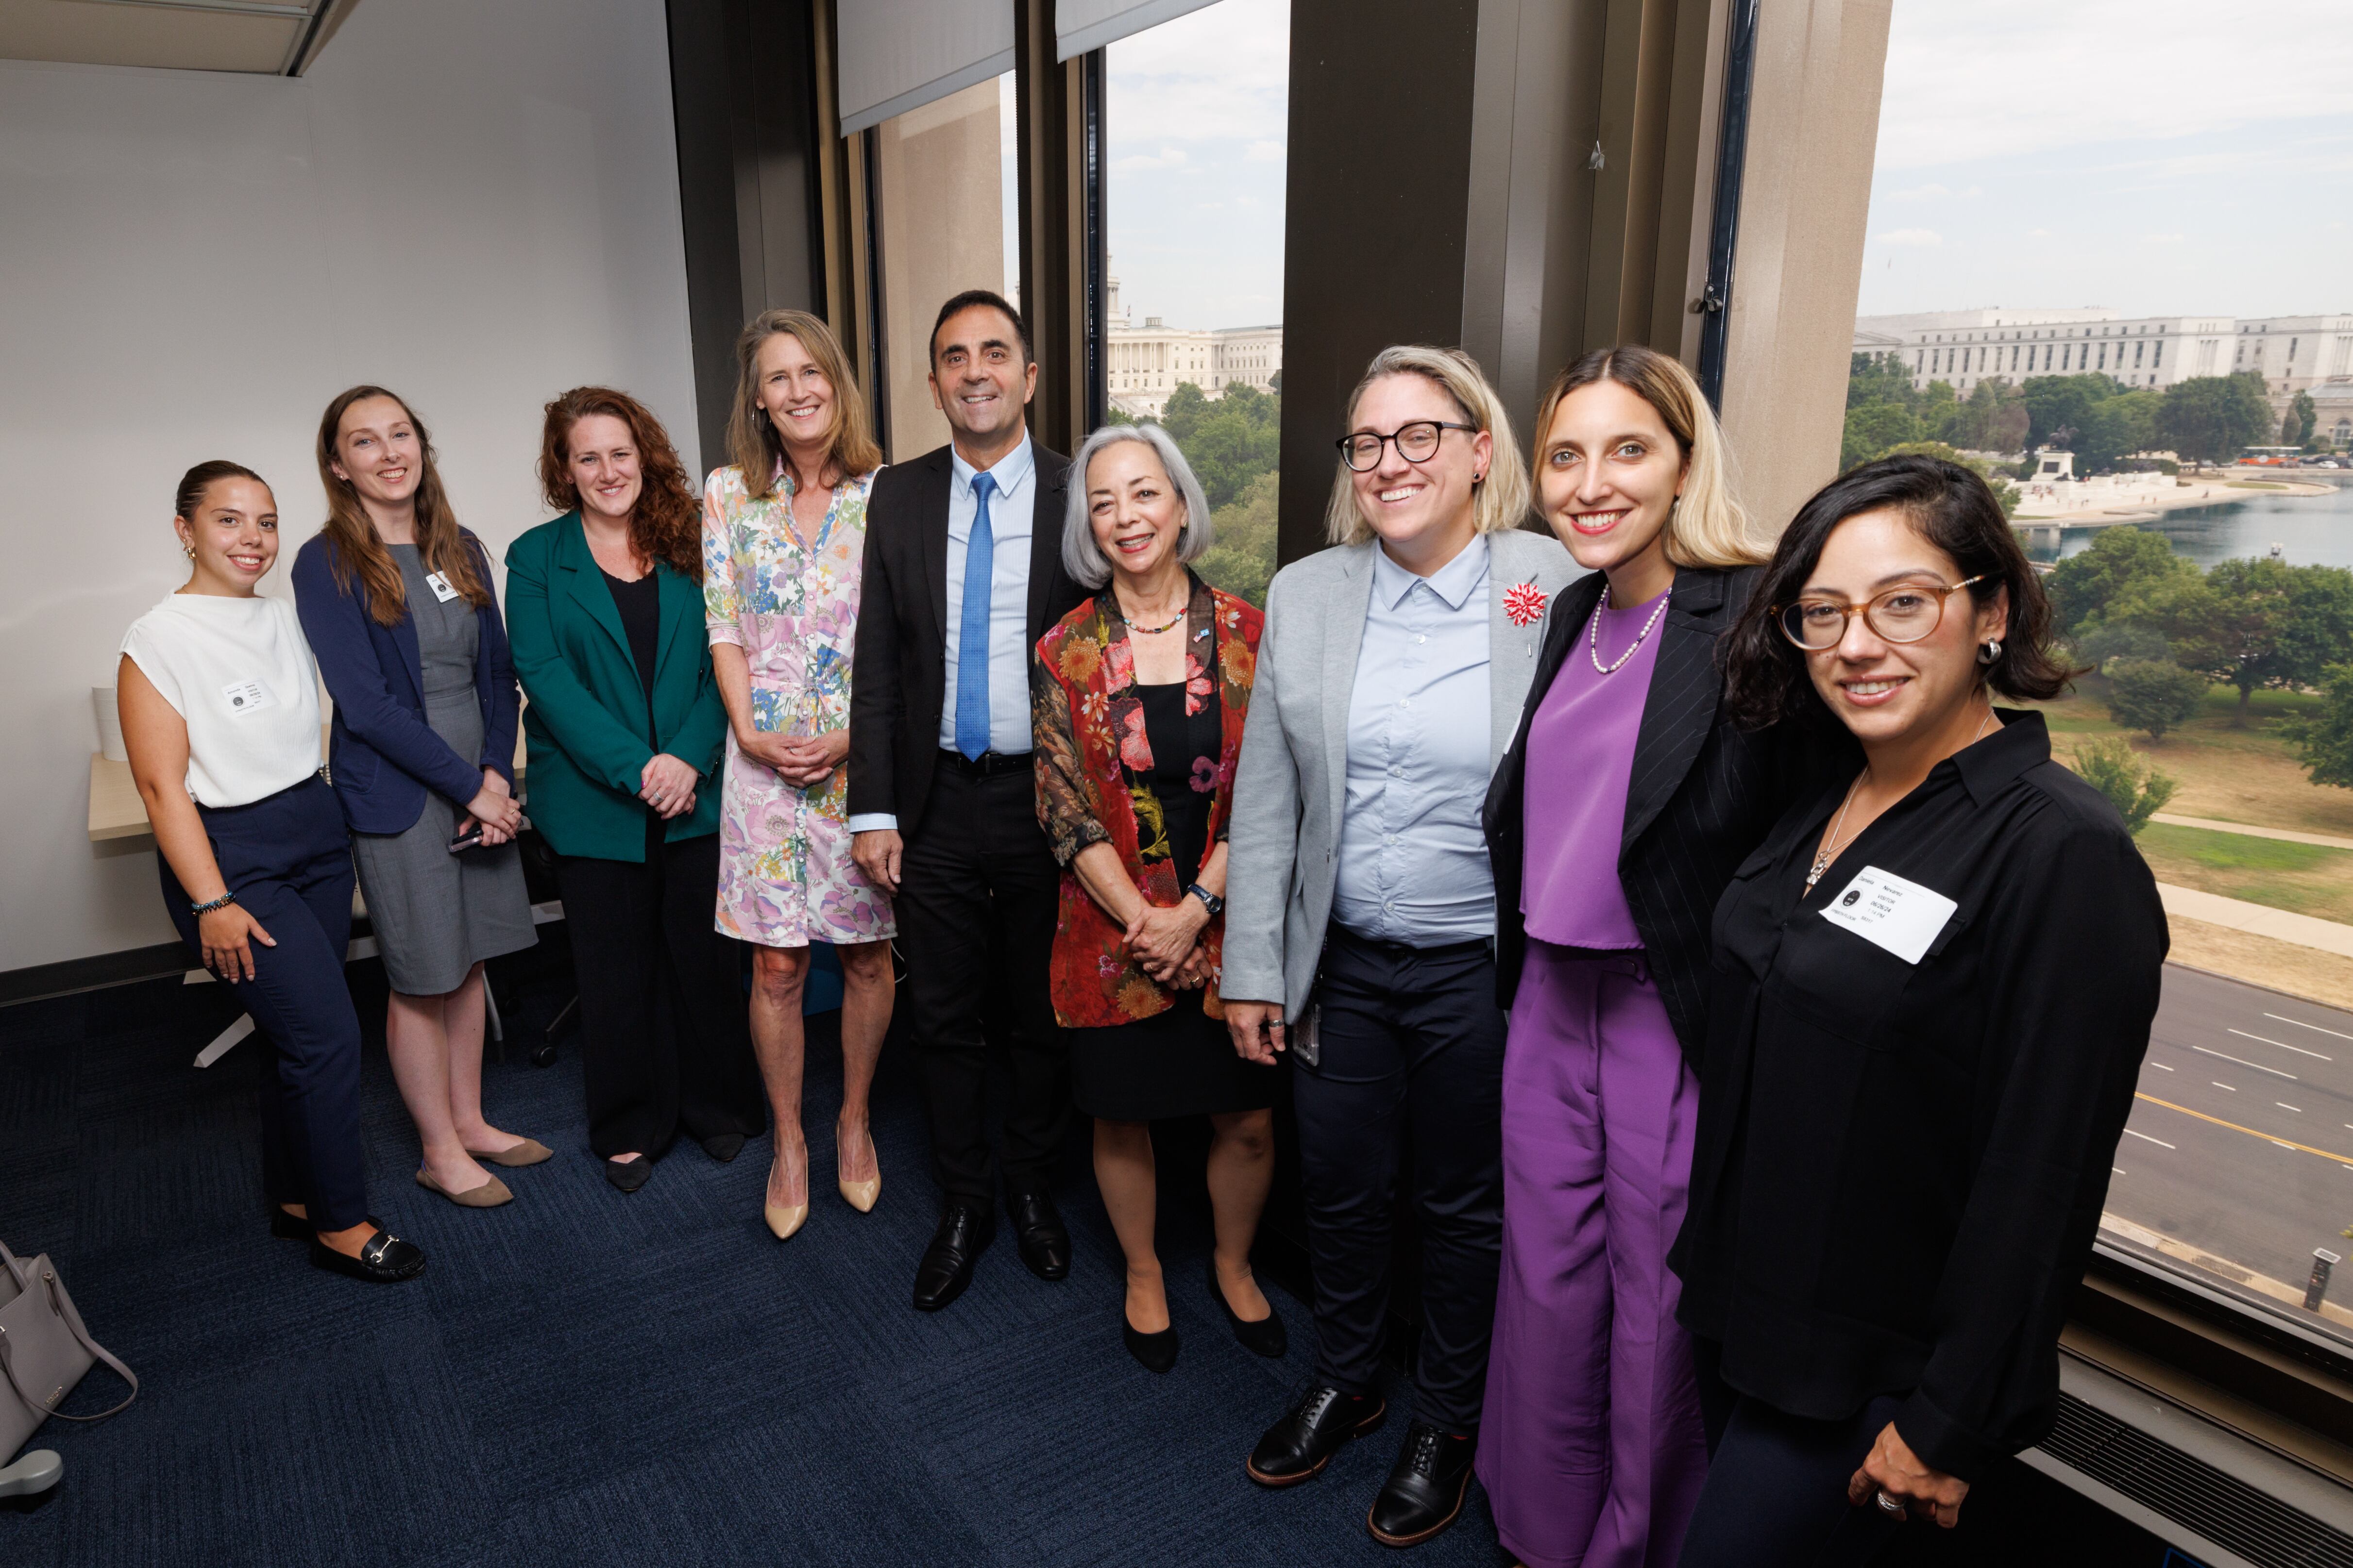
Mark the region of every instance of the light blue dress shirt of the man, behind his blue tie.
MULTIPOLYGON (((939 745, 955 750, 955 656, 965 625, 965 550, 972 545, 972 482, 979 468, 948 449, 948 684, 939 701, 939 745)), ((988 498, 988 750, 1019 757, 1031 750, 1028 712, 1028 552, 1038 512, 1038 454, 1021 444, 988 470, 998 494, 988 498)), ((849 832, 896 827, 887 811, 849 818, 849 832)))

